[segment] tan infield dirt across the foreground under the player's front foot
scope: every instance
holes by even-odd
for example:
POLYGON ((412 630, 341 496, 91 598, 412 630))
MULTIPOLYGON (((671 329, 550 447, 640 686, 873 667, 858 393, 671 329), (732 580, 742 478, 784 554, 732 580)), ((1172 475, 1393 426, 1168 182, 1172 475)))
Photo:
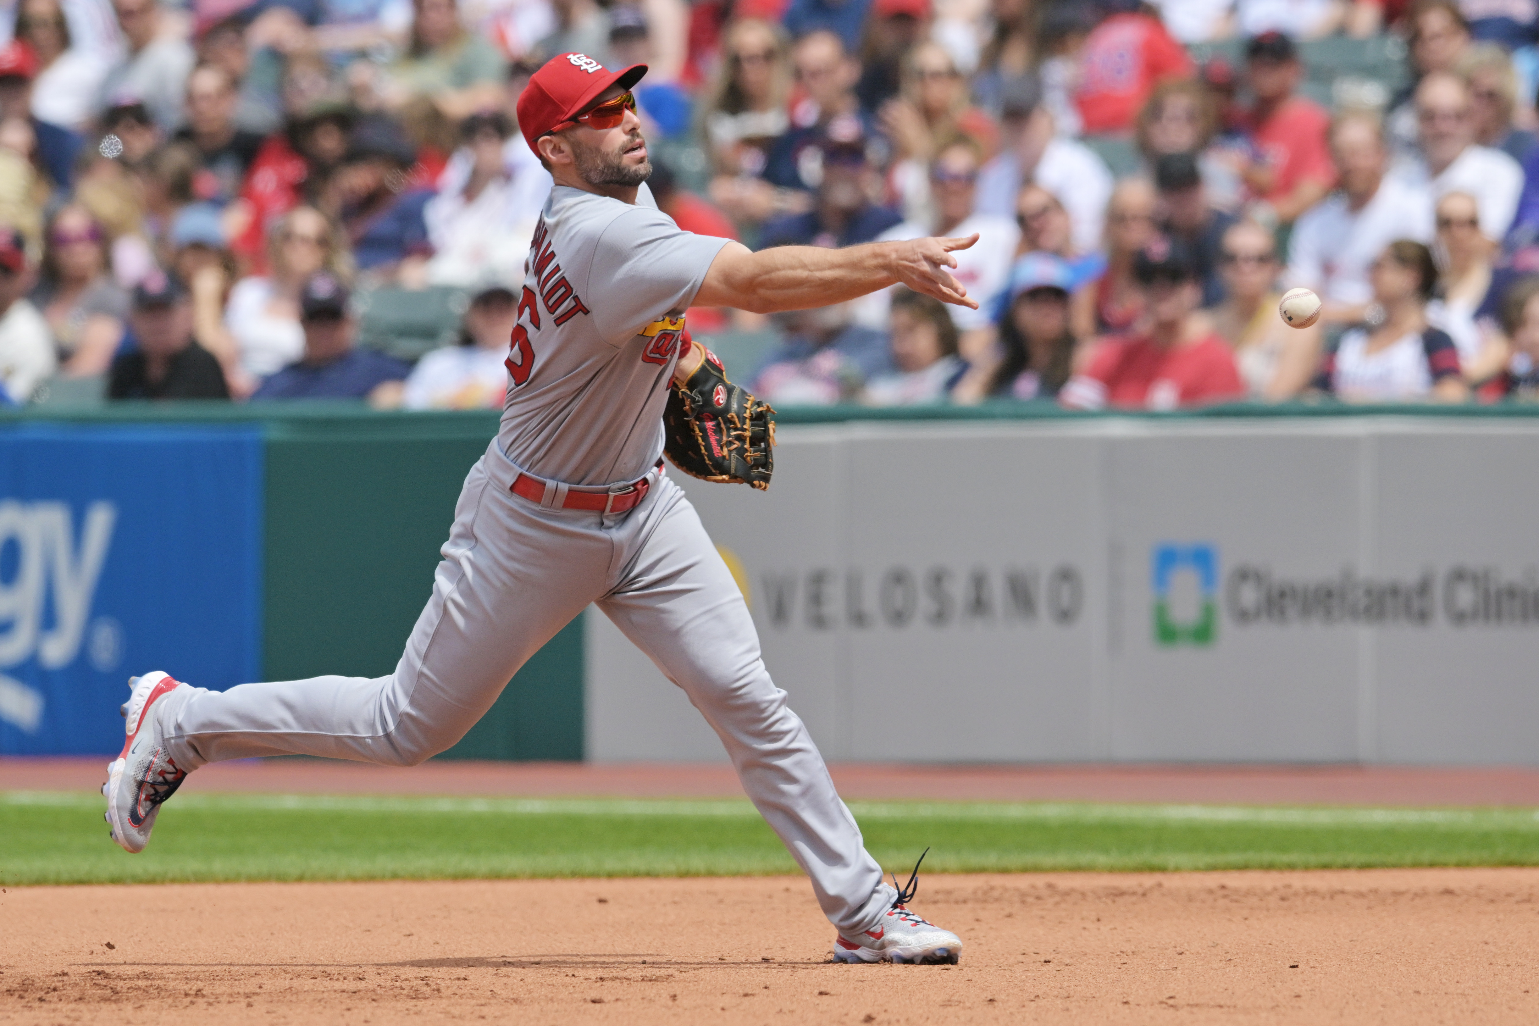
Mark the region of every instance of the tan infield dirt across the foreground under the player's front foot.
POLYGON ((11 888, 0 1023, 1534 1023, 1539 869, 930 875, 840 966, 800 877, 11 888))

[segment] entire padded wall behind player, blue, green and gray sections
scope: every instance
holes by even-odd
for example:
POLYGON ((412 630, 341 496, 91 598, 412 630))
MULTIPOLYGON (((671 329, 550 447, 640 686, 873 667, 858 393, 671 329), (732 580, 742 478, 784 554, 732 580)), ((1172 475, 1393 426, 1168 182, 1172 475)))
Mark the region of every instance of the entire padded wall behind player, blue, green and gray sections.
MULTIPOLYGON (((685 488, 831 757, 1539 761, 1539 411, 1277 412, 786 411, 773 489, 685 488)), ((389 672, 494 429, 0 415, 0 754, 115 751, 149 668, 389 672)), ((589 612, 449 755, 720 746, 589 612)))

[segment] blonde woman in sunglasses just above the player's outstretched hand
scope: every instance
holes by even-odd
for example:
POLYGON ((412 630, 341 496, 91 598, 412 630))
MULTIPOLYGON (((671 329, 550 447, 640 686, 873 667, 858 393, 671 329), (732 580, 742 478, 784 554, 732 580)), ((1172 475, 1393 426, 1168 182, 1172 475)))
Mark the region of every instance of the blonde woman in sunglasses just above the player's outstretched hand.
POLYGON ((882 131, 893 142, 896 163, 890 174, 903 202, 903 217, 930 222, 930 163, 939 148, 962 137, 983 157, 999 148, 999 126, 968 102, 966 77, 939 43, 925 42, 903 60, 903 92, 880 112, 882 131))

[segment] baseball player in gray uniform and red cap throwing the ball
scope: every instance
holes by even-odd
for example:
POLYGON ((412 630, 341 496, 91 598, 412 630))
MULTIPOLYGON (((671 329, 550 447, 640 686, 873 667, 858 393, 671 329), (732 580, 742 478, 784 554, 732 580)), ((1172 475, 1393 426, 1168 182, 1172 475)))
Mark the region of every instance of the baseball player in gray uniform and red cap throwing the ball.
POLYGON ((134 678, 128 738, 102 789, 112 840, 143 851, 160 804, 211 761, 303 754, 416 766, 459 741, 525 660, 596 603, 720 735, 837 929, 834 957, 956 963, 956 934, 905 908, 917 866, 897 889, 866 854, 660 452, 671 386, 699 394, 703 381, 717 405, 746 395, 689 340, 688 306, 803 309, 903 283, 976 308, 948 268, 977 237, 751 252, 683 232, 645 185, 629 92, 645 74, 562 54, 519 97, 519 128, 556 188, 520 292, 502 425, 465 478, 396 672, 223 692, 163 672, 134 678))

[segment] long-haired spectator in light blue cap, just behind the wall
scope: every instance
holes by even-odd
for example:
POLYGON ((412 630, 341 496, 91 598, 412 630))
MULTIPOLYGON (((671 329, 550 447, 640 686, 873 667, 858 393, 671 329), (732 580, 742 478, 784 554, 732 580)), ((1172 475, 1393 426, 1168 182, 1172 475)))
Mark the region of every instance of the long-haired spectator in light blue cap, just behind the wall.
POLYGON ((1054 398, 1068 381, 1079 340, 1070 325, 1073 275, 1053 254, 1033 252, 1010 271, 999 360, 986 394, 996 398, 1054 398))

